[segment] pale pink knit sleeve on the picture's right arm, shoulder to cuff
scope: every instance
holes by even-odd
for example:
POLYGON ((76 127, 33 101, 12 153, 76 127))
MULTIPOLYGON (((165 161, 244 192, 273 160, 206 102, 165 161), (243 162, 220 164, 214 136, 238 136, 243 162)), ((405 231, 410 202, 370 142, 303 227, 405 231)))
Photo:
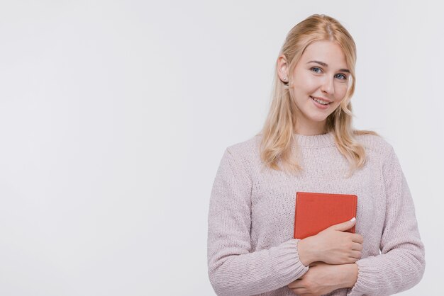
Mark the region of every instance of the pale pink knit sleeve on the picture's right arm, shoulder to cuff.
POLYGON ((381 254, 356 261, 357 282, 348 295, 392 295, 412 288, 423 277, 425 251, 409 186, 390 147, 383 166, 386 214, 381 254))

